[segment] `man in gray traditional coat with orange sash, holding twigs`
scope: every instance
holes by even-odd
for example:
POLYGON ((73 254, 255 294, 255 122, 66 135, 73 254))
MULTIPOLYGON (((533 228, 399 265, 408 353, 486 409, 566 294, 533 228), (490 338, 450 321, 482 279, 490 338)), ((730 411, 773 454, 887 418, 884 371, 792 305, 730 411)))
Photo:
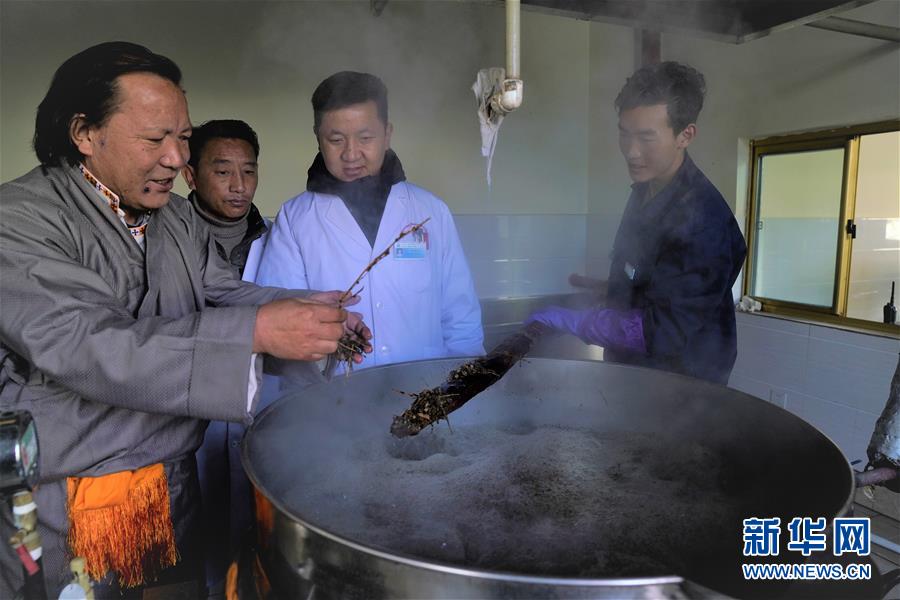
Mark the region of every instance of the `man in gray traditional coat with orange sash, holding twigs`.
MULTIPOLYGON (((206 420, 251 420, 261 354, 320 360, 362 327, 315 302, 333 293, 235 279, 171 194, 191 134, 180 80, 135 44, 76 54, 38 108, 41 165, 0 186, 0 408, 37 426, 52 598, 73 556, 99 596, 201 586, 194 452, 206 420)), ((23 577, 0 551, 0 597, 23 577)))

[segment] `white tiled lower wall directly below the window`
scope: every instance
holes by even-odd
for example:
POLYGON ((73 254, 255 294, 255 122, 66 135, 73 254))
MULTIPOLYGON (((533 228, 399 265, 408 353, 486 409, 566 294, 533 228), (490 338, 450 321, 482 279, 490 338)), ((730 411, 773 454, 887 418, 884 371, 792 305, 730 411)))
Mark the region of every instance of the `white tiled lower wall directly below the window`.
POLYGON ((760 314, 738 313, 737 320, 729 386, 805 419, 864 465, 900 340, 760 314))

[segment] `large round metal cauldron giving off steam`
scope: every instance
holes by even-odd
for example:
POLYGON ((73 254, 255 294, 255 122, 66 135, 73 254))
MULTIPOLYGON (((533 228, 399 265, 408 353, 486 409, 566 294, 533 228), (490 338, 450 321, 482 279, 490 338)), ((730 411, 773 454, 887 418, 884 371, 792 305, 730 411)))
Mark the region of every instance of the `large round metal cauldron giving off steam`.
MULTIPOLYGON (((819 431, 746 394, 661 371, 602 362, 530 359, 453 413, 452 429, 441 423, 417 438, 393 440, 388 434, 391 419, 410 403, 410 398, 397 390, 415 392, 437 385, 460 362, 432 360, 356 372, 288 393, 256 420, 244 440, 243 460, 257 490, 270 502, 262 501, 259 511, 263 515, 260 555, 276 595, 706 598, 715 597, 711 591, 715 590, 737 597, 795 597, 797 589, 786 585, 748 586, 743 582, 739 565, 747 559, 741 557, 740 519, 778 516, 786 524, 793 516, 830 519, 848 514, 854 489, 852 471, 841 452, 819 431), (475 439, 469 432, 483 433, 485 427, 496 428, 497 433, 488 438, 496 441, 465 455, 468 440, 475 439), (577 444, 553 446, 531 457, 519 456, 516 464, 498 470, 497 485, 485 485, 483 479, 454 479, 463 466, 500 464, 490 461, 504 451, 500 446, 514 444, 517 435, 544 431, 587 432, 584 435, 600 440, 596 442, 600 453, 588 460, 578 456, 577 444), (621 464, 603 465, 612 477, 609 485, 585 494, 578 482, 590 475, 591 461, 606 457, 603 444, 607 440, 628 444, 632 438, 651 444, 659 440, 660 448, 629 455, 634 464, 623 459, 621 464), (629 475, 636 465, 651 460, 647 457, 656 455, 653 460, 659 474, 660 465, 665 471, 667 456, 671 455, 672 461, 684 458, 677 456, 682 448, 689 449, 685 450, 688 454, 700 454, 694 457, 693 472, 676 469, 668 477, 661 475, 664 481, 659 483, 659 494, 664 487, 675 486, 675 499, 663 499, 657 508, 648 504, 646 519, 641 519, 646 523, 636 523, 633 535, 629 531, 623 534, 619 527, 612 553, 603 559, 614 561, 622 546, 622 553, 634 559, 623 567, 624 575, 590 576, 590 568, 582 569, 579 560, 589 555, 594 540, 599 543, 605 534, 603 530, 595 532, 588 541, 579 537, 584 532, 584 518, 605 509, 624 515, 653 500, 655 489, 634 492, 632 497, 617 496, 617 492, 628 489, 629 475), (575 475, 551 473, 546 470, 549 467, 541 467, 548 460, 556 460, 554 464, 562 464, 564 470, 571 465, 581 471, 575 475), (385 470, 387 465, 393 470, 385 470), (536 478, 526 482, 516 480, 515 473, 500 472, 531 467, 536 478), (704 487, 710 485, 702 481, 707 469, 715 489, 704 487), (448 478, 437 493, 435 472, 448 478), (570 479, 560 483, 560 477, 570 479), (502 542, 498 538, 505 537, 489 522, 498 511, 517 510, 511 503, 518 500, 510 495, 517 490, 522 497, 521 486, 525 485, 532 486, 528 489, 536 490, 536 495, 546 493, 542 486, 547 482, 560 483, 552 492, 558 496, 541 510, 558 512, 561 506, 569 507, 563 516, 570 519, 564 523, 571 523, 571 528, 541 538, 546 533, 542 533, 545 523, 532 514, 531 521, 514 521, 518 526, 508 530, 510 536, 517 536, 515 547, 496 555, 484 550, 484 543, 502 542), (426 485, 431 486, 428 493, 433 500, 422 508, 416 502, 426 492, 426 485), (478 489, 468 496, 459 495, 469 486, 478 489), (579 497, 594 492, 606 500, 598 504, 597 498, 579 497), (716 494, 721 493, 736 499, 738 508, 723 513, 718 522, 704 521, 719 510, 716 494), (458 502, 458 514, 448 515, 448 498, 458 498, 453 500, 458 502), (665 512, 685 498, 691 503, 690 510, 683 510, 682 505, 674 516, 665 512), (418 507, 416 514, 411 514, 412 506, 418 507), (438 511, 433 518, 428 514, 432 506, 438 511), (465 517, 468 524, 450 523, 457 517, 465 517), (686 534, 679 529, 692 519, 699 524, 695 542, 692 530, 686 534), (640 527, 651 527, 650 537, 647 532, 637 532, 640 527), (431 535, 431 530, 440 531, 431 535), (435 535, 443 539, 440 536, 445 534, 447 539, 440 546, 447 546, 446 556, 423 541, 435 535), (574 547, 566 547, 569 540, 574 547), (652 560, 635 557, 640 548, 624 547, 634 540, 644 544, 652 560), (472 544, 478 545, 474 554, 472 544), (532 571, 534 567, 527 563, 504 560, 508 552, 529 545, 535 546, 535 551, 556 548, 551 555, 558 554, 562 562, 532 571), (666 556, 660 557, 661 547, 669 548, 671 563, 666 556), (478 560, 470 560, 473 556, 478 560), (692 562, 680 561, 685 556, 691 556, 692 562), (570 569, 569 563, 576 566, 570 569), (670 572, 666 564, 682 565, 677 568, 684 572, 670 572)), ((441 480, 437 481, 440 485, 441 480)), ((524 493, 527 497, 527 489, 524 493)), ((615 521, 610 522, 613 529, 621 525, 615 521)), ((785 537, 786 533, 782 539, 785 537)), ((778 558, 778 562, 803 561, 802 556, 784 552, 778 558)))

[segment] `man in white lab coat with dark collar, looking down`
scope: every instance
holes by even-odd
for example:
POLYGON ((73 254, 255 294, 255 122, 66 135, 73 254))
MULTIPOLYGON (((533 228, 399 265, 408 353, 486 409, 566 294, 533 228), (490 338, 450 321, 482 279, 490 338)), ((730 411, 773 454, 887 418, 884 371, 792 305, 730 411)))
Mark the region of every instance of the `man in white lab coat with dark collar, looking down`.
POLYGON ((483 354, 481 307, 453 217, 440 198, 406 181, 390 149, 384 83, 336 73, 312 105, 319 153, 306 191, 278 214, 256 282, 346 289, 401 231, 429 219, 360 282, 354 310, 375 349, 360 367, 483 354))

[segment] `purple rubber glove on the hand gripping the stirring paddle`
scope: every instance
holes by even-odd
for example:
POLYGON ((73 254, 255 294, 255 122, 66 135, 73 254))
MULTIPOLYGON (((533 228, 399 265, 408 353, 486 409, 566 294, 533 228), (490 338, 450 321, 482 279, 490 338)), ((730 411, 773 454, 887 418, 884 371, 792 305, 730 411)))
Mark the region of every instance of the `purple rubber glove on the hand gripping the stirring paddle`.
POLYGON ((587 344, 647 353, 644 342, 644 319, 639 309, 570 310, 560 306, 548 306, 532 313, 525 319, 525 324, 534 321, 558 331, 577 335, 587 344))

